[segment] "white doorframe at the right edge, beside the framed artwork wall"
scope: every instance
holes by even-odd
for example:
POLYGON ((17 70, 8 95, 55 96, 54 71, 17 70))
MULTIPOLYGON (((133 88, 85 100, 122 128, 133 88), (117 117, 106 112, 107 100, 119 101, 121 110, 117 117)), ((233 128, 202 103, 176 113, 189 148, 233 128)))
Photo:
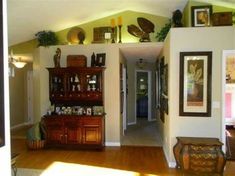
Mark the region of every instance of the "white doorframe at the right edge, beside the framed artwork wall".
POLYGON ((230 54, 235 54, 235 50, 223 50, 223 56, 222 56, 222 76, 221 76, 221 97, 222 97, 222 102, 221 102, 221 140, 224 143, 223 145, 223 151, 226 151, 226 122, 225 122, 225 90, 226 90, 226 56, 230 54))

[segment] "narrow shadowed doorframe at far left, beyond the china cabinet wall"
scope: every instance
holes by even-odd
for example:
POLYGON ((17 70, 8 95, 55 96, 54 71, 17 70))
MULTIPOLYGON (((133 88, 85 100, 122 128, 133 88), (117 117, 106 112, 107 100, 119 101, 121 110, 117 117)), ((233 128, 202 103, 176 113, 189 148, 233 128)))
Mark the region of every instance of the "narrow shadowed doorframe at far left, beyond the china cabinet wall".
POLYGON ((33 121, 33 71, 27 72, 27 122, 32 124, 33 121))

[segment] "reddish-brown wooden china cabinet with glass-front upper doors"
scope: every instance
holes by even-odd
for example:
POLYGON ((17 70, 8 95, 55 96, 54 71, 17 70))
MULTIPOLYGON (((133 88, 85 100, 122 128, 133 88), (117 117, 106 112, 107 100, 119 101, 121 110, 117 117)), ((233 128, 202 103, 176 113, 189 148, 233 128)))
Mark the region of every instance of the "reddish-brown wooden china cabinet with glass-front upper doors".
POLYGON ((103 148, 104 67, 47 68, 54 110, 43 118, 47 147, 103 148))

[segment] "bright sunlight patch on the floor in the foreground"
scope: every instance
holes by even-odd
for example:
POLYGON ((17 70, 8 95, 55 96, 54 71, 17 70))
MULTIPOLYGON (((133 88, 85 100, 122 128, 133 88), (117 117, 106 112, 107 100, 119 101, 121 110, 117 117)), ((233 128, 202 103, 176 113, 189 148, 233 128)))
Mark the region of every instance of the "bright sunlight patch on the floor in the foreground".
POLYGON ((81 164, 54 162, 40 176, 157 176, 138 172, 88 166, 81 164))

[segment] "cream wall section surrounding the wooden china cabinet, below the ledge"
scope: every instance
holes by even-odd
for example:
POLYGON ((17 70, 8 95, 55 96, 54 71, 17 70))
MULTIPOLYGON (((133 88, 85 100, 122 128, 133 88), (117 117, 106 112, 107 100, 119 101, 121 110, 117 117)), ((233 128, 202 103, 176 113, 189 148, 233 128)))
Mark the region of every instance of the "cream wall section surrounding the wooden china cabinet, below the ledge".
MULTIPOLYGON (((107 143, 120 143, 120 82, 119 82, 119 47, 118 44, 93 44, 40 47, 34 55, 34 116, 39 121, 50 106, 49 74, 46 67, 54 67, 53 56, 56 48, 62 51, 61 67, 66 67, 67 55, 87 56, 87 65, 93 52, 106 53, 104 72, 105 138, 107 143)), ((109 144, 108 144, 109 145, 109 144)))

